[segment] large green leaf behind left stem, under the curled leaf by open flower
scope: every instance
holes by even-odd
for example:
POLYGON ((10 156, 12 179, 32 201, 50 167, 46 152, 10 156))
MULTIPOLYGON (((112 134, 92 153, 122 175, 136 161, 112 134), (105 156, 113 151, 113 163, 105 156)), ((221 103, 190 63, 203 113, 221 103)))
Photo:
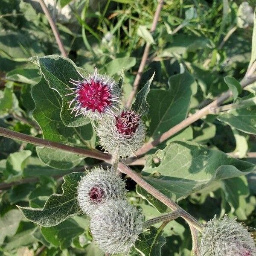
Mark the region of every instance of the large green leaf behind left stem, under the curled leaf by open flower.
MULTIPOLYGON (((95 146, 96 139, 91 124, 81 127, 67 127, 63 124, 60 117, 60 96, 49 88, 44 78, 32 88, 32 97, 36 105, 33 116, 45 139, 87 148, 95 146)), ((37 153, 44 163, 57 169, 71 169, 84 159, 78 154, 44 147, 37 147, 37 153)))

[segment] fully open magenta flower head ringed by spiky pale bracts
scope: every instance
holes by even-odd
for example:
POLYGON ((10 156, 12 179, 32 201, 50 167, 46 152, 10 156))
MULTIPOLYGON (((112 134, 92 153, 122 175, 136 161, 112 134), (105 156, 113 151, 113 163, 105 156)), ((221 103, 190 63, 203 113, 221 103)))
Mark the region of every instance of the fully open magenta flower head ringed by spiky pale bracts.
POLYGON ((78 81, 70 79, 70 83, 75 87, 67 88, 73 90, 74 95, 69 103, 69 108, 74 103, 71 113, 76 113, 75 116, 84 115, 92 119, 101 118, 104 114, 115 116, 118 111, 120 90, 116 81, 108 76, 102 76, 97 73, 97 69, 93 75, 88 77, 79 75, 82 79, 78 81))

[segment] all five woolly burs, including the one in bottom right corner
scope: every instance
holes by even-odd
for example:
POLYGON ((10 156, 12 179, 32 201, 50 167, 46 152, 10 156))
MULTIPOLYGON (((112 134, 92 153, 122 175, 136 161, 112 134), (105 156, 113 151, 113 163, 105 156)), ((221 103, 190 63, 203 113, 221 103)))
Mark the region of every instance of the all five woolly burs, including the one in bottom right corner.
MULTIPOLYGON (((143 144, 145 125, 143 111, 121 109, 119 83, 97 73, 71 79, 74 104, 72 112, 91 119, 99 143, 112 155, 110 169, 94 168, 81 178, 77 187, 81 210, 90 216, 94 241, 110 254, 127 254, 143 232, 143 215, 126 201, 125 182, 117 171, 119 157, 133 155, 143 144), (139 112, 139 113, 137 113, 139 112)), ((201 256, 256 256, 253 238, 247 228, 226 215, 216 216, 202 232, 201 256)))

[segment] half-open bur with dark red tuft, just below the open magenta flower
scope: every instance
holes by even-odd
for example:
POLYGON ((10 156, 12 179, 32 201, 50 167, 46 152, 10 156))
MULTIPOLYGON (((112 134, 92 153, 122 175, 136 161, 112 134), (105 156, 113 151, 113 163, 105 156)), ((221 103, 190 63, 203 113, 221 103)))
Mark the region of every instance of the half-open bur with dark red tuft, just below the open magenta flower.
POLYGON ((110 154, 134 154, 144 142, 145 125, 141 116, 132 110, 123 110, 115 118, 102 119, 96 130, 100 144, 110 154))

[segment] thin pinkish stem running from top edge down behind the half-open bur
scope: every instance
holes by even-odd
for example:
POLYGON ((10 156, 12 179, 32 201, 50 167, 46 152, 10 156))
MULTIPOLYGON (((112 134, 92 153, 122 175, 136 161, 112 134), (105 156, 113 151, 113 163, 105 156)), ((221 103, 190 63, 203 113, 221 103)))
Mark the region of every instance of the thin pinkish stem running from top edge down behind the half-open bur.
MULTIPOLYGON (((157 21, 160 17, 160 12, 161 12, 161 9, 162 9, 162 6, 163 6, 163 2, 164 2, 163 0, 159 0, 159 2, 158 2, 157 9, 156 9, 156 12, 154 14, 154 18, 153 18, 153 22, 152 22, 150 32, 154 32, 156 27, 157 27, 157 21)), ((131 107, 131 103, 132 103, 132 101, 133 101, 133 99, 136 95, 138 86, 140 84, 140 79, 141 79, 143 70, 145 68, 147 59, 148 59, 149 50, 150 50, 150 44, 146 43, 146 46, 145 46, 145 49, 144 49, 144 52, 143 52, 143 56, 142 56, 142 59, 141 59, 141 62, 140 62, 140 67, 139 67, 137 75, 134 79, 133 89, 132 89, 132 91, 129 95, 129 98, 127 99, 127 102, 126 102, 126 107, 127 108, 131 107)))

